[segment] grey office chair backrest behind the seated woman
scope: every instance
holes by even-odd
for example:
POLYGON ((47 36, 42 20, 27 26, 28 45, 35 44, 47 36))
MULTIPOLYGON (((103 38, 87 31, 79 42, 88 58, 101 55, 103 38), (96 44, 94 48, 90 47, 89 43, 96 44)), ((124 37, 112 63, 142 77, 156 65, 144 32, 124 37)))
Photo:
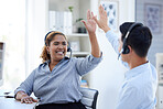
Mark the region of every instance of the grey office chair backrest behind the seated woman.
POLYGON ((80 92, 83 94, 82 103, 84 103, 87 109, 96 109, 98 90, 80 88, 80 92))

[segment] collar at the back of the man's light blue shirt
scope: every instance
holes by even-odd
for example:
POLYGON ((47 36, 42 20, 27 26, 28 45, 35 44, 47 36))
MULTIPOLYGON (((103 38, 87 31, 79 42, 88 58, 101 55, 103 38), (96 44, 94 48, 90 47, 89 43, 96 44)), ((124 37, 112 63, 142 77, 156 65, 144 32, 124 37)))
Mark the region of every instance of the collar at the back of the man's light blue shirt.
POLYGON ((142 64, 142 65, 139 65, 130 70, 128 70, 126 74, 124 74, 124 78, 126 79, 130 79, 134 76, 138 76, 139 74, 142 74, 144 73, 144 70, 146 70, 148 68, 150 67, 150 62, 145 63, 145 64, 142 64))

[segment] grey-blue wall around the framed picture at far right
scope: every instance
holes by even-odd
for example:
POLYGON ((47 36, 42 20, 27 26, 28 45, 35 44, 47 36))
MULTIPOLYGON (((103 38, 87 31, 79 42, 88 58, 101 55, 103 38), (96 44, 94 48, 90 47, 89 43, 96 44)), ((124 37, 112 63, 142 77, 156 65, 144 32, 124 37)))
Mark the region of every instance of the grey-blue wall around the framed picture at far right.
MULTIPOLYGON (((163 11, 163 0, 137 0, 137 21, 142 22, 143 24, 145 24, 145 19, 144 19, 145 3, 162 6, 161 11, 163 11)), ((152 35, 153 35, 153 41, 152 41, 152 45, 149 51, 148 57, 153 65, 155 65, 155 63, 156 63, 155 62, 155 54, 163 53, 163 43, 162 43, 163 42, 163 19, 162 18, 163 18, 163 12, 161 12, 161 17, 160 17, 161 32, 154 33, 151 30, 152 35)))

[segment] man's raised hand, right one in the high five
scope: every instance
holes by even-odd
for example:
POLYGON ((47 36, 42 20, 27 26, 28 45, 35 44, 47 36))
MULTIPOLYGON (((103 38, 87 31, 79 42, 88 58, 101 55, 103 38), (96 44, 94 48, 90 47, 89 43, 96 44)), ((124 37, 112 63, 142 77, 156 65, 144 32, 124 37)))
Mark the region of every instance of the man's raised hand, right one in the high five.
POLYGON ((105 32, 110 30, 110 28, 108 26, 107 12, 105 11, 101 4, 99 6, 99 20, 97 20, 97 17, 94 17, 93 19, 96 21, 98 26, 102 29, 105 32))

